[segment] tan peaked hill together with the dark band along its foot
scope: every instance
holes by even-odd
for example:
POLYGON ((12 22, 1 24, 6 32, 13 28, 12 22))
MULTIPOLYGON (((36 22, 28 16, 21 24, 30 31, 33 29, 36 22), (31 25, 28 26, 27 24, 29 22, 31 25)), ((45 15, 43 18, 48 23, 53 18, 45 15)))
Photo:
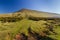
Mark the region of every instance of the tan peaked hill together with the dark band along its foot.
POLYGON ((19 11, 16 11, 14 13, 8 13, 8 14, 0 14, 0 20, 1 21, 16 21, 21 19, 30 19, 30 20, 40 20, 40 19, 60 19, 60 14, 56 13, 48 13, 48 12, 42 12, 42 11, 36 11, 36 10, 29 10, 29 9, 21 9, 19 11))

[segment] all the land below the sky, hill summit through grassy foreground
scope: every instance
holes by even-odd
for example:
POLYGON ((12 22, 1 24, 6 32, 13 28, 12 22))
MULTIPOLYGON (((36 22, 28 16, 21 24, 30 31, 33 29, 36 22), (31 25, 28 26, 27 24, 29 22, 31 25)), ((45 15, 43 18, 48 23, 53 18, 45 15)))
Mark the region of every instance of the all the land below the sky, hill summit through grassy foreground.
POLYGON ((0 14, 0 40, 60 40, 60 14, 21 9, 0 14))

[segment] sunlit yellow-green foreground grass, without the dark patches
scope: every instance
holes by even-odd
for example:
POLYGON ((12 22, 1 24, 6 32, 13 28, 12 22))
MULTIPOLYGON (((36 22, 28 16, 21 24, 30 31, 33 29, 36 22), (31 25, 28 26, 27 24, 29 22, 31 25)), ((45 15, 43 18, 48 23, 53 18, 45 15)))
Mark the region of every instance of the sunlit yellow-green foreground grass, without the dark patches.
MULTIPOLYGON (((13 37, 17 33, 24 33, 28 36, 28 28, 31 27, 32 31, 35 31, 37 33, 41 33, 43 30, 48 30, 46 25, 43 25, 44 23, 47 23, 46 21, 40 20, 40 21, 33 21, 28 19, 23 19, 18 22, 13 23, 1 23, 0 25, 0 40, 12 40, 13 37), (10 33, 10 36, 7 36, 7 34, 10 33)), ((60 40, 60 28, 57 26, 56 33, 58 35, 54 35, 51 32, 51 35, 49 37, 57 38, 57 40, 60 40)))

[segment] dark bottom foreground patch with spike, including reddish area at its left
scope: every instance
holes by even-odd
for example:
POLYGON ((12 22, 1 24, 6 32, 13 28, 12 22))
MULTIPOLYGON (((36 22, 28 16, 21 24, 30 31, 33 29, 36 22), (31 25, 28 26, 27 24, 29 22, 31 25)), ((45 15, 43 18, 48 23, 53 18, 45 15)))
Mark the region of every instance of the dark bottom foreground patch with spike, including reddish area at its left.
POLYGON ((40 33, 36 33, 34 31, 31 30, 31 28, 28 28, 28 35, 25 35, 24 33, 18 34, 17 39, 20 40, 56 40, 54 38, 50 38, 44 34, 40 35, 40 33), (43 35, 43 36, 42 36, 43 35))

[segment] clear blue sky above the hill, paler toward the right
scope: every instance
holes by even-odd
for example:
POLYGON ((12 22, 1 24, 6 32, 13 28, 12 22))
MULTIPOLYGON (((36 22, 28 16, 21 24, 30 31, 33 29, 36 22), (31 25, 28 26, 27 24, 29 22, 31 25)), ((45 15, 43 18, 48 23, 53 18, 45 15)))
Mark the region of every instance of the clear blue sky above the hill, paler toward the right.
POLYGON ((60 0, 0 0, 0 13, 11 13, 22 8, 60 14, 60 0))

